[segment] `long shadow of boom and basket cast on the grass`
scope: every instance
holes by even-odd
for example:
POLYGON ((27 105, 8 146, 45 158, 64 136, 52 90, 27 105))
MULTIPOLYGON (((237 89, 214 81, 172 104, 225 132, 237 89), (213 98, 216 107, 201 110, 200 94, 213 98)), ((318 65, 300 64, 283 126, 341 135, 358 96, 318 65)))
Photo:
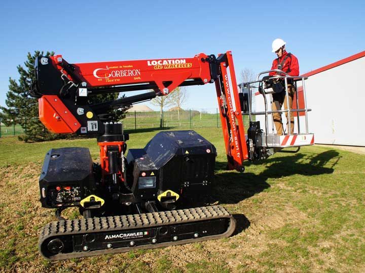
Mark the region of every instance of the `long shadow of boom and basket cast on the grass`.
MULTIPOLYGON (((334 166, 340 160, 334 150, 317 155, 296 154, 293 156, 274 157, 253 165, 266 164, 259 173, 226 171, 215 174, 211 199, 213 202, 236 204, 246 198, 270 188, 268 178, 278 178, 294 174, 319 175, 333 173, 334 166)), ((226 162, 216 162, 216 170, 226 169, 226 162)))

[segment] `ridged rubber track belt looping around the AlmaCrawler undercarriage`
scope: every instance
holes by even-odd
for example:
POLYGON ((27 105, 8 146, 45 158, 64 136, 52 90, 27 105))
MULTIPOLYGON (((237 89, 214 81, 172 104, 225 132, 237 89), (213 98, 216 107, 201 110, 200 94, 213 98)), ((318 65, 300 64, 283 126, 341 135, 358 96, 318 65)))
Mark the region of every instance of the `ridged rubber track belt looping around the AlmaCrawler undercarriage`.
POLYGON ((39 238, 39 250, 41 254, 50 260, 82 258, 99 254, 111 254, 127 252, 135 249, 149 249, 157 247, 166 247, 170 245, 180 245, 191 242, 206 241, 210 239, 220 239, 230 237, 236 228, 236 221, 233 216, 221 206, 206 206, 190 209, 180 209, 172 211, 162 211, 154 213, 142 213, 133 215, 121 215, 110 217, 94 217, 65 221, 53 221, 44 226, 39 238), (45 255, 42 253, 42 244, 45 240, 59 236, 93 234, 111 231, 134 230, 140 228, 149 228, 152 226, 161 226, 178 223, 189 223, 197 221, 205 221, 211 219, 229 219, 227 231, 205 237, 199 237, 181 241, 171 241, 157 244, 140 245, 134 247, 123 247, 113 249, 102 249, 94 251, 79 251, 71 253, 58 253, 55 255, 45 255))

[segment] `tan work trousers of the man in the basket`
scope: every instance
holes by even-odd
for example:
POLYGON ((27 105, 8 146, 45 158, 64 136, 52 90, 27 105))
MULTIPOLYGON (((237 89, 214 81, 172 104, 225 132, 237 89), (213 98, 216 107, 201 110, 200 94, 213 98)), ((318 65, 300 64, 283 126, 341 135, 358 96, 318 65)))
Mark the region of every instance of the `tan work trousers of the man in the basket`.
MULTIPOLYGON (((283 91, 281 93, 274 93, 272 95, 272 97, 273 97, 272 110, 273 111, 281 110, 282 105, 284 105, 285 110, 288 108, 291 110, 293 107, 294 94, 295 94, 295 86, 292 84, 288 84, 289 105, 287 105, 285 91, 283 91)), ((289 130, 287 112, 285 113, 285 116, 286 116, 286 132, 287 132, 289 130)), ((273 113, 273 119, 274 119, 274 124, 275 124, 277 135, 282 135, 283 126, 282 126, 282 120, 281 120, 281 113, 273 113)), ((293 112, 290 112, 290 134, 293 134, 293 133, 294 133, 294 117, 293 117, 293 112)))

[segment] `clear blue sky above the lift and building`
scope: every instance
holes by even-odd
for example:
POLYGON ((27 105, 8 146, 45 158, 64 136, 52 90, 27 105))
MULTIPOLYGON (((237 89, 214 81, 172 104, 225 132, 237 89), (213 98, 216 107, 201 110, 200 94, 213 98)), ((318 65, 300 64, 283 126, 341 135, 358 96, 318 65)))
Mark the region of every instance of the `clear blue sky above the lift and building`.
MULTIPOLYGON (((271 67, 281 37, 300 72, 365 50, 363 1, 4 1, 0 105, 28 52, 69 63, 193 57, 233 52, 236 75, 271 67)), ((188 88, 184 108, 214 109, 213 84, 188 88)), ((127 94, 131 95, 131 94, 127 94)))

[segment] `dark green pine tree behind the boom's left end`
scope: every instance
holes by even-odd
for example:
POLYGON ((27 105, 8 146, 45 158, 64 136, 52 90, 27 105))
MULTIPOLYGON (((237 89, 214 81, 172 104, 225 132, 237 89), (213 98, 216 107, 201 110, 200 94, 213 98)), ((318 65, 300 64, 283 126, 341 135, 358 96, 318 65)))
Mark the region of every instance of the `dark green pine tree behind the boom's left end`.
POLYGON ((19 80, 9 78, 9 91, 5 101, 8 107, 0 107, 3 113, 0 118, 7 126, 20 124, 24 135, 19 139, 26 142, 54 140, 64 136, 51 133, 38 118, 38 100, 29 94, 29 88, 34 80, 34 61, 38 56, 52 56, 53 52, 35 51, 33 55, 28 53, 24 67, 17 66, 19 80))

